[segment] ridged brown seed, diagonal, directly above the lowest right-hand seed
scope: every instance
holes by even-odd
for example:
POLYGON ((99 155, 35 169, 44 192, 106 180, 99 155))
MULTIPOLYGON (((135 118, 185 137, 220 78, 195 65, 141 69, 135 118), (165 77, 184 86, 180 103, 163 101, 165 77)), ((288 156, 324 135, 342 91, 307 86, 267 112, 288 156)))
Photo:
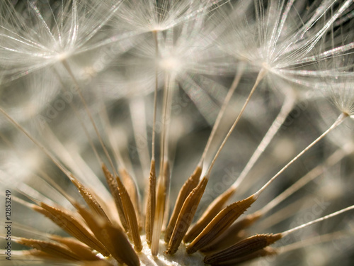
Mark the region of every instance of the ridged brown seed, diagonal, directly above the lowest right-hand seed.
POLYGON ((222 209, 222 211, 212 219, 212 221, 204 228, 202 233, 198 235, 192 243, 186 248, 188 254, 192 254, 204 248, 212 240, 221 235, 229 226, 236 221, 246 209, 256 201, 256 197, 249 196, 247 199, 236 201, 233 204, 222 209))

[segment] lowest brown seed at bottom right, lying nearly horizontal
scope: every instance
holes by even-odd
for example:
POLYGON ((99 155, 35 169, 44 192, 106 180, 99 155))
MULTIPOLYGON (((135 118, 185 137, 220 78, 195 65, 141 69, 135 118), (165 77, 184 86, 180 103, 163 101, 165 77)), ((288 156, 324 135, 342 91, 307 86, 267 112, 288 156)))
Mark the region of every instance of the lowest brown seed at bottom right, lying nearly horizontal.
POLYGON ((280 240, 280 238, 282 238, 280 233, 275 235, 253 235, 218 253, 205 256, 204 262, 207 264, 214 264, 215 262, 226 262, 234 260, 237 257, 244 257, 273 244, 275 241, 280 240))

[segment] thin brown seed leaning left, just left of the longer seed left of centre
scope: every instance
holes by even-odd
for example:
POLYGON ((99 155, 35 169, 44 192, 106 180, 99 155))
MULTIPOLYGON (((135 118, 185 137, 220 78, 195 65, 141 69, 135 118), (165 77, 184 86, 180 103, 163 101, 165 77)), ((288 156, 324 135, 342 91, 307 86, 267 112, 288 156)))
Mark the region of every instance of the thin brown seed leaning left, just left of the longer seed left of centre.
POLYGON ((103 173, 105 174, 105 179, 108 183, 108 187, 110 189, 110 194, 112 194, 113 199, 115 201, 115 206, 117 207, 117 210, 118 210, 120 223, 122 223, 123 228, 127 232, 127 231, 129 231, 129 226, 127 223, 127 218, 125 217, 125 214, 124 214, 122 199, 120 199, 117 181, 115 180, 113 175, 108 171, 108 168, 105 166, 105 164, 102 164, 102 170, 103 170, 103 173))

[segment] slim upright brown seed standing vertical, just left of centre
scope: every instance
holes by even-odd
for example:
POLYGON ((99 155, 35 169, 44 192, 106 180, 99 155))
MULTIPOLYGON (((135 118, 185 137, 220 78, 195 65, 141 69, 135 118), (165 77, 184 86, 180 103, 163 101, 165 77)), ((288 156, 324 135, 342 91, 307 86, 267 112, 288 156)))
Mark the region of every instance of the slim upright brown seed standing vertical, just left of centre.
POLYGON ((150 166, 149 191, 147 198, 147 215, 145 217, 145 232, 147 235, 147 245, 152 243, 152 229, 154 228, 154 217, 156 208, 156 172, 155 160, 152 160, 150 166))

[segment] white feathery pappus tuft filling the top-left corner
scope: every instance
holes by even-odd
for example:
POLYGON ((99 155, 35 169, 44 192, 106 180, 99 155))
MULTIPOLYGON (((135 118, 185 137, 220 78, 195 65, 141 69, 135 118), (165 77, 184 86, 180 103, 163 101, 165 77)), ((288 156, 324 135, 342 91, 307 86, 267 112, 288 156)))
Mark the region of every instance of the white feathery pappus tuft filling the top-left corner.
POLYGON ((103 15, 97 4, 78 0, 28 1, 18 6, 1 2, 5 13, 0 21, 0 55, 11 80, 100 47, 107 40, 97 33, 115 11, 103 15))

